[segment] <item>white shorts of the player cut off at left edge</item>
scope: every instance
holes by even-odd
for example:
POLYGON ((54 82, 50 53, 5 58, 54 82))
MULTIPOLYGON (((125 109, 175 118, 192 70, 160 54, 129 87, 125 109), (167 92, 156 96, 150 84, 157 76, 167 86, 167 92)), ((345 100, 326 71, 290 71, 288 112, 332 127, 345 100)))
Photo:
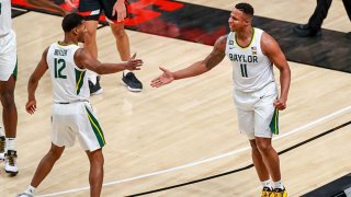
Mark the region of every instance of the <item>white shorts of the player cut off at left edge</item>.
POLYGON ((8 81, 13 73, 16 77, 16 39, 14 31, 0 37, 0 81, 8 81))

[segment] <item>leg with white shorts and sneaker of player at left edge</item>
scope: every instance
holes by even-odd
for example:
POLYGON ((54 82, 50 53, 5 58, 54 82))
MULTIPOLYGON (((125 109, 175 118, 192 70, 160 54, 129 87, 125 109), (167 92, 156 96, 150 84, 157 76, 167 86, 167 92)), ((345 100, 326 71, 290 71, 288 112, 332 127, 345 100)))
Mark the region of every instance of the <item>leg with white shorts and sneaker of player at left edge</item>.
POLYGON ((2 104, 3 131, 0 134, 0 157, 4 159, 4 171, 14 176, 19 173, 16 166, 15 137, 18 126, 18 111, 14 103, 14 88, 16 80, 16 39, 11 31, 1 37, 0 47, 0 100, 2 104), (5 148, 4 148, 5 147, 5 148))

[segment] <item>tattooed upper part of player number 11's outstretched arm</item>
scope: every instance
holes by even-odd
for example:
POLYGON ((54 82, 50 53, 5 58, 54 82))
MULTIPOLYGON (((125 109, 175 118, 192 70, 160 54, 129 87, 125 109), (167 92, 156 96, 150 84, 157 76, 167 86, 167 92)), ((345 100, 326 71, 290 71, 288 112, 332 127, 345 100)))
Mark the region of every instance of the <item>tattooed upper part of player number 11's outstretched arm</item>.
POLYGON ((219 37, 215 43, 214 49, 204 60, 206 68, 208 70, 217 66, 226 56, 225 54, 226 40, 227 40, 227 36, 219 37))

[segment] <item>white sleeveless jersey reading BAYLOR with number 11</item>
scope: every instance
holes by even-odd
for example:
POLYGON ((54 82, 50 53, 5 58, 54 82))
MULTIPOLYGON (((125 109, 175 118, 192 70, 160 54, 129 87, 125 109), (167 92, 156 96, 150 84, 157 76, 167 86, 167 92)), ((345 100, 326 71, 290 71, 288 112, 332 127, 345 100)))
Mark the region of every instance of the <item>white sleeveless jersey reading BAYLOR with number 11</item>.
POLYGON ((253 36, 247 47, 236 42, 235 32, 227 37, 226 55, 233 65, 233 81, 235 90, 252 92, 274 82, 273 63, 261 50, 260 28, 252 28, 253 36))

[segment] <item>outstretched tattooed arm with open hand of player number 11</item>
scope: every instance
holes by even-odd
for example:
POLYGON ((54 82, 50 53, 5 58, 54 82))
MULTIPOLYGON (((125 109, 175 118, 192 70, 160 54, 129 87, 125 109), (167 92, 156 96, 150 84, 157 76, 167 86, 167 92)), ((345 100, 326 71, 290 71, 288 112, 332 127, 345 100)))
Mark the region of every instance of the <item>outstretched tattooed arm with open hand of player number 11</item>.
POLYGON ((214 47, 212 53, 201 61, 196 61, 193 65, 171 72, 165 68, 160 67, 160 70, 163 72, 161 76, 155 78, 151 81, 151 86, 159 88, 165 84, 168 84, 172 82, 173 80, 180 80, 184 78, 192 78, 195 76, 200 76, 202 73, 207 72, 208 70, 213 69, 215 66, 217 66, 225 57, 225 49, 226 49, 226 40, 227 36, 219 37, 214 47))

